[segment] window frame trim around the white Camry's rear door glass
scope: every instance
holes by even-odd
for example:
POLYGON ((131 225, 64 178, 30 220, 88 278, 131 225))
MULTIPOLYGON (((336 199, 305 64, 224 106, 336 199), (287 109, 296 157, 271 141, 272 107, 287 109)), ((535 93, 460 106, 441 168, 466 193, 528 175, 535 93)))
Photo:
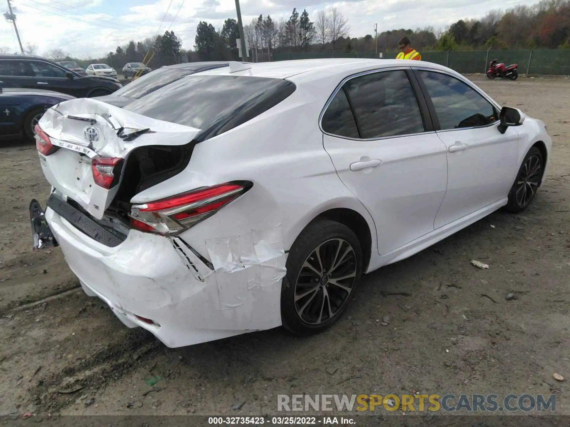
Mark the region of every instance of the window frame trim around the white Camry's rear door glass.
MULTIPOLYGON (((348 97, 348 93, 345 92, 345 95, 347 96, 348 103, 351 106, 352 116, 355 118, 356 128, 357 128, 359 135, 360 135, 361 134, 360 133, 360 126, 358 125, 358 119, 356 118, 356 115, 354 113, 354 109, 352 108, 352 102, 351 102, 350 98, 348 97)), ((329 135, 329 136, 335 137, 335 138, 350 139, 351 141, 381 141, 382 139, 411 137, 411 136, 416 136, 416 135, 425 135, 425 134, 429 134, 429 133, 435 133, 434 123, 433 123, 433 120, 431 117, 431 113, 427 107, 427 102, 426 102, 425 96, 420 89, 420 85, 417 82, 417 78, 414 75, 414 73, 412 72, 412 67, 402 67, 402 66, 374 68, 374 69, 370 69, 367 71, 361 71, 361 72, 358 72, 356 74, 352 74, 350 76, 344 77, 344 79, 341 80, 339 85, 337 85, 335 90, 332 92, 331 96, 329 96, 327 102, 325 102, 323 110, 321 111, 321 113, 319 115, 319 128, 320 128, 321 132, 323 132, 325 135, 329 135), (408 77, 410 85, 412 86, 412 91, 414 92, 414 95, 416 96, 418 108, 420 109, 420 114, 422 116, 422 122, 424 123, 424 132, 408 133, 408 134, 402 134, 402 135, 393 135, 393 136, 377 137, 377 138, 351 138, 351 137, 346 137, 346 136, 342 136, 342 135, 336 135, 333 133, 329 133, 323 129, 324 113, 327 111, 328 106, 331 105, 331 102, 335 98, 336 94, 341 89, 344 90, 343 89, 344 84, 347 83, 347 81, 352 80, 352 79, 356 79, 356 77, 366 76, 369 74, 376 74, 376 73, 381 73, 381 72, 386 72, 386 71, 398 71, 398 70, 403 70, 406 73, 406 76, 408 77), (421 94, 421 96, 420 96, 420 94, 421 94)))

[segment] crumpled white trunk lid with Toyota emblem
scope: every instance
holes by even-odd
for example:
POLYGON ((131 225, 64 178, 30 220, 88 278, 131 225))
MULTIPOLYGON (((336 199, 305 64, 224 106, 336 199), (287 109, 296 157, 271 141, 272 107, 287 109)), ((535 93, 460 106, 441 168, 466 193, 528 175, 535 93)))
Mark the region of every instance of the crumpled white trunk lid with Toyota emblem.
POLYGON ((105 102, 80 98, 48 109, 39 126, 59 149, 40 155, 48 182, 96 219, 101 219, 123 179, 126 161, 111 188, 95 183, 91 161, 95 157, 127 159, 145 145, 176 146, 191 142, 200 129, 141 116, 105 102))

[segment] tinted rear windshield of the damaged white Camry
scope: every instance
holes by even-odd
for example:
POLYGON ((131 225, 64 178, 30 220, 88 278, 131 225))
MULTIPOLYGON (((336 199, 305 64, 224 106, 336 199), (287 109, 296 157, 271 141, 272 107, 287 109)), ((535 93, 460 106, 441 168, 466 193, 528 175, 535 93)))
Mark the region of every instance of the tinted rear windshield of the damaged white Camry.
POLYGON ((259 116, 293 92, 295 84, 288 80, 193 75, 141 97, 124 109, 201 129, 196 139, 203 141, 259 116))

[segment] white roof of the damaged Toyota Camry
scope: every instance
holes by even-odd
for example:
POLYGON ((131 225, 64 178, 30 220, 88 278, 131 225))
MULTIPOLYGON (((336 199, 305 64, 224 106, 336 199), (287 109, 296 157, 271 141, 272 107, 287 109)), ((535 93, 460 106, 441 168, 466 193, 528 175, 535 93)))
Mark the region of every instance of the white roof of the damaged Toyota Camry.
MULTIPOLYGON (((250 63, 242 71, 231 73, 235 76, 272 77, 274 79, 288 79, 297 82, 320 80, 323 76, 350 75, 370 69, 390 68, 395 65, 421 67, 445 70, 449 68, 425 61, 396 60, 396 59, 357 59, 357 58, 327 58, 327 59, 299 59, 291 61, 273 61, 263 63, 250 63)), ((231 67, 231 65, 230 65, 231 67)), ((453 72, 455 73, 455 72, 453 72)), ((202 71, 202 75, 227 75, 230 68, 216 68, 202 71)))

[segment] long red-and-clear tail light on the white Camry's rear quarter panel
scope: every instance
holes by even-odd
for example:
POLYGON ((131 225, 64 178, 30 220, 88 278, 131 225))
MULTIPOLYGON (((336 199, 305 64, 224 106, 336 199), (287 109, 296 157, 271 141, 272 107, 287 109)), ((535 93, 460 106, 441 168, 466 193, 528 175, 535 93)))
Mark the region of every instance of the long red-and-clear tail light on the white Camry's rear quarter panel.
POLYGON ((252 185, 251 182, 220 184, 156 202, 133 205, 131 227, 165 236, 176 235, 213 215, 252 185))

